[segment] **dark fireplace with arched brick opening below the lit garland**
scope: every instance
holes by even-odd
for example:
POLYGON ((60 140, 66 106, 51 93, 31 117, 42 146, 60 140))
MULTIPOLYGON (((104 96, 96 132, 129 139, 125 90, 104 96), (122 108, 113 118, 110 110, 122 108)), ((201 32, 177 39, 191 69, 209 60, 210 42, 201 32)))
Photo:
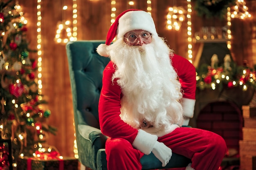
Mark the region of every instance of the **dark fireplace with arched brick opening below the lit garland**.
MULTIPOLYGON (((190 126, 209 130, 222 136, 232 155, 239 155, 242 140, 242 106, 248 105, 254 89, 243 91, 241 87, 204 89, 196 92, 194 117, 190 126)), ((231 155, 231 156, 232 156, 231 155)))

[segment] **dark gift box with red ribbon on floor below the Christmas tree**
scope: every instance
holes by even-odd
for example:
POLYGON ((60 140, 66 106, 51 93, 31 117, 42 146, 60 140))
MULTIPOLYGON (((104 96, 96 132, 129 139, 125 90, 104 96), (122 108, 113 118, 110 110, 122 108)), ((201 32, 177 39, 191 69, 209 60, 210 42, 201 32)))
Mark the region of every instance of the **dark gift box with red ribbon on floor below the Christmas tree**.
POLYGON ((63 159, 38 159, 21 157, 17 162, 17 170, 77 170, 78 159, 63 157, 63 159))

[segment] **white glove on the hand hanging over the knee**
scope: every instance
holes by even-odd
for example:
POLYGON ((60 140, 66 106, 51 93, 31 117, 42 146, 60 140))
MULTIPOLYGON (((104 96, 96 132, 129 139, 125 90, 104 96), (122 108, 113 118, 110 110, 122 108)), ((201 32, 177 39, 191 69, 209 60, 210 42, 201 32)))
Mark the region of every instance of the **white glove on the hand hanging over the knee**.
POLYGON ((160 143, 159 141, 155 142, 152 152, 155 157, 157 157, 157 159, 162 162, 163 167, 167 165, 173 154, 170 148, 168 148, 164 143, 160 143))

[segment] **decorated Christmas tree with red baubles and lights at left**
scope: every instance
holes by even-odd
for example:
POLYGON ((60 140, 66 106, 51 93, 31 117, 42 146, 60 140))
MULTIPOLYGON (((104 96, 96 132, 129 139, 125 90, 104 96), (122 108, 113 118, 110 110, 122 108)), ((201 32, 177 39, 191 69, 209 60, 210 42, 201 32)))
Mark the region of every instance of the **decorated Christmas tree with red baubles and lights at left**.
POLYGON ((32 156, 56 129, 47 124, 50 111, 43 110, 23 13, 12 3, 0 1, 0 130, 2 139, 11 139, 16 162, 20 155, 32 156))

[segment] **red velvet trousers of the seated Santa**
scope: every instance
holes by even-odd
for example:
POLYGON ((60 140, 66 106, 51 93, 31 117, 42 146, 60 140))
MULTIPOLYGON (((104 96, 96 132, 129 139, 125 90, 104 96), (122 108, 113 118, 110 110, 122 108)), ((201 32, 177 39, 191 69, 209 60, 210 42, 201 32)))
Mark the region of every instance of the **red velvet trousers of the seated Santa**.
MULTIPOLYGON (((177 154, 192 160, 195 170, 218 170, 227 146, 219 135, 197 128, 176 128, 173 132, 158 138, 177 154)), ((108 170, 141 170, 140 158, 144 153, 132 147, 122 138, 108 138, 106 141, 108 170)))

